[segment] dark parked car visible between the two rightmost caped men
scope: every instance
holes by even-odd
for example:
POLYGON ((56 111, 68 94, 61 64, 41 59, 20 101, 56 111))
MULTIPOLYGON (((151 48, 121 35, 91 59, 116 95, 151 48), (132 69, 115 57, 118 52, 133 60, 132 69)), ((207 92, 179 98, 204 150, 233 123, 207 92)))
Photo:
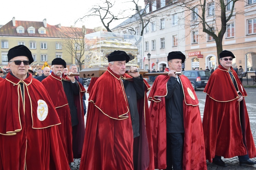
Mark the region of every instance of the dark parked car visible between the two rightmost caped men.
POLYGON ((208 70, 188 70, 183 71, 183 73, 190 80, 194 89, 204 88, 211 75, 208 70))

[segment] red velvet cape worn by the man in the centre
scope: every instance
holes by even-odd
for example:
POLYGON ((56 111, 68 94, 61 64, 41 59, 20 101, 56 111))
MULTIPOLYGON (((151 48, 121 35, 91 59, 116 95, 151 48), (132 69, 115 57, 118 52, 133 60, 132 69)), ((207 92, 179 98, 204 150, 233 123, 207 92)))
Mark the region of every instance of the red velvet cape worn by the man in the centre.
MULTIPOLYGON (((80 169, 133 169, 133 133, 122 79, 109 68, 90 90, 86 135, 80 169)), ((90 83, 91 85, 91 83, 90 83)), ((150 86, 145 83, 145 92, 150 86)), ((141 137, 139 169, 154 169, 153 145, 146 97, 138 101, 141 137)))

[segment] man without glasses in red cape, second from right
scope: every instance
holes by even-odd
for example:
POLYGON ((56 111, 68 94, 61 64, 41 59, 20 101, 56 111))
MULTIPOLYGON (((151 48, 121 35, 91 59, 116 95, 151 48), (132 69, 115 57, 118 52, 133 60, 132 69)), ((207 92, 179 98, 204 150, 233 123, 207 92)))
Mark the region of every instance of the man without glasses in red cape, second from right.
POLYGON ((168 75, 159 75, 148 95, 155 169, 207 169, 195 90, 187 77, 175 75, 185 55, 173 51, 167 58, 168 75))

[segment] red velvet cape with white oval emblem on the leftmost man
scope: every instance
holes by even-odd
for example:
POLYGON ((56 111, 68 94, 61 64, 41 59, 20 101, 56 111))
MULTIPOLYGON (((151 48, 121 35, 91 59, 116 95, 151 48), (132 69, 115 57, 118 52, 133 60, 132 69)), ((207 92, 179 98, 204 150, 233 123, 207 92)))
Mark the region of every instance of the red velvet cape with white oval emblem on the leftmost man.
POLYGON ((22 170, 25 165, 37 170, 69 169, 56 126, 60 120, 44 86, 32 74, 21 81, 9 73, 0 88, 5 97, 0 104, 0 170, 22 170))

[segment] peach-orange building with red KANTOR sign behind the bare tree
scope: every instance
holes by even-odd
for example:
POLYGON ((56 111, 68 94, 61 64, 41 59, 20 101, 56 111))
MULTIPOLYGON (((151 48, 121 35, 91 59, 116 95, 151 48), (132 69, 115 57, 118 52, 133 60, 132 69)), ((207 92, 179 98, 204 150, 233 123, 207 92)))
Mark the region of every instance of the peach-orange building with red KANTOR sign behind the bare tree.
MULTIPOLYGON (((232 2, 226 0, 226 15, 232 9, 232 2)), ((212 28, 219 29, 220 22, 216 19, 220 15, 218 1, 207 1, 206 14, 208 23, 212 24, 212 28)), ((227 29, 223 37, 223 50, 231 51, 236 58, 232 61, 232 66, 242 66, 248 75, 254 75, 256 71, 256 1, 237 1, 234 4, 234 11, 230 20, 227 22, 227 29)), ((198 9, 199 10, 199 9, 198 9)), ((198 17, 190 13, 186 20, 190 27, 186 29, 186 69, 195 68, 205 69, 206 66, 214 69, 218 67, 218 57, 216 43, 210 35, 202 31, 200 25, 193 27, 193 22, 197 21, 198 17)))

